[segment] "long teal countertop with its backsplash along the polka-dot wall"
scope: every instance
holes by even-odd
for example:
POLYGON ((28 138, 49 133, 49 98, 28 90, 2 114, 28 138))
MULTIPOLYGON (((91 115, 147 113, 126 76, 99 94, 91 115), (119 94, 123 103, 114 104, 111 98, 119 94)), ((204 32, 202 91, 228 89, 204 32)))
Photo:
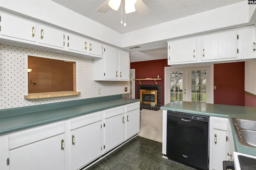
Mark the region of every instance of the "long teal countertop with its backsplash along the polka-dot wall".
POLYGON ((22 107, 20 108, 20 114, 16 113, 9 116, 7 113, 14 113, 19 109, 14 108, 1 110, 0 134, 35 127, 38 125, 44 125, 56 121, 67 120, 88 113, 102 111, 112 107, 118 107, 121 105, 140 101, 139 99, 120 98, 119 96, 102 98, 99 97, 82 101, 72 101, 71 104, 70 102, 60 102, 55 103, 54 105, 45 104, 33 108, 22 107), (102 98, 104 100, 102 100, 102 98), (66 105, 66 107, 64 107, 64 105, 66 105))

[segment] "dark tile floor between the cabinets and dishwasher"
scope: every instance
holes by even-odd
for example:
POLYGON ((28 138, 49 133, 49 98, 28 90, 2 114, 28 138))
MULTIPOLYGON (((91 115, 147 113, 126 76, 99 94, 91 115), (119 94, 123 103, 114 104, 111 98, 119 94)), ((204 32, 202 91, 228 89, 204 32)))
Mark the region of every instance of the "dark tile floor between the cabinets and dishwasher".
POLYGON ((194 170, 162 158, 162 143, 136 136, 87 170, 194 170))

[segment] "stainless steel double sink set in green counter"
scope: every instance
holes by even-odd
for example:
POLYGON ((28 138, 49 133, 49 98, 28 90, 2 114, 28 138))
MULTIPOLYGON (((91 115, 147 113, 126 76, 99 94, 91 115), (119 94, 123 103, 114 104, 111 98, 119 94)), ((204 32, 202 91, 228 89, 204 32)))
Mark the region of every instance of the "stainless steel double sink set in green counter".
POLYGON ((256 121, 232 118, 240 144, 256 148, 256 121))

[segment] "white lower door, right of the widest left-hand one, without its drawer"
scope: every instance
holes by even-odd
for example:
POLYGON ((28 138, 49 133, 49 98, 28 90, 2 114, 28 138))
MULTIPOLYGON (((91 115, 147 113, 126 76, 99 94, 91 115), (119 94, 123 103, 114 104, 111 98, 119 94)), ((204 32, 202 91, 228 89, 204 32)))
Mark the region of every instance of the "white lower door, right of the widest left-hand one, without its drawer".
POLYGON ((71 131, 70 167, 81 168, 101 155, 101 122, 71 131))

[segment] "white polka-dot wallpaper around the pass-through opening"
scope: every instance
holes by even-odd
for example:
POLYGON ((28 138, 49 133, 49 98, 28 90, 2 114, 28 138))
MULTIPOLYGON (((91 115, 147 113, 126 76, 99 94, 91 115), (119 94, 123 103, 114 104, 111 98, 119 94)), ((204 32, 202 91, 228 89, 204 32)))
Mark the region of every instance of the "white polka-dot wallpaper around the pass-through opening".
POLYGON ((124 92, 124 87, 130 87, 129 81, 93 81, 93 66, 93 59, 0 44, 0 109, 127 93, 124 92), (77 91, 80 91, 81 94, 44 99, 24 99, 24 95, 27 95, 28 91, 26 82, 28 55, 76 61, 78 68, 77 91), (101 89, 101 95, 98 95, 98 89, 101 89))

